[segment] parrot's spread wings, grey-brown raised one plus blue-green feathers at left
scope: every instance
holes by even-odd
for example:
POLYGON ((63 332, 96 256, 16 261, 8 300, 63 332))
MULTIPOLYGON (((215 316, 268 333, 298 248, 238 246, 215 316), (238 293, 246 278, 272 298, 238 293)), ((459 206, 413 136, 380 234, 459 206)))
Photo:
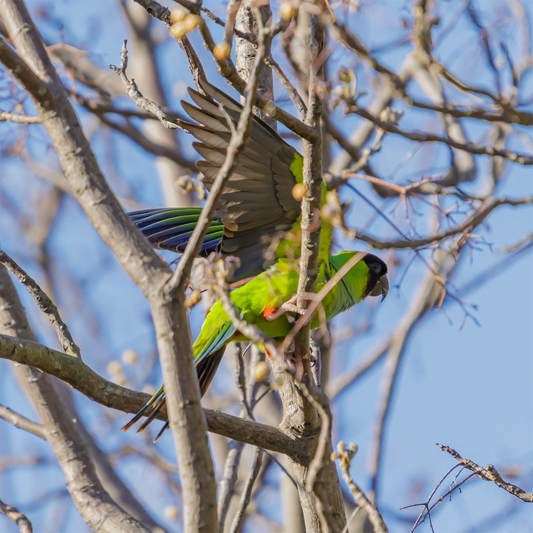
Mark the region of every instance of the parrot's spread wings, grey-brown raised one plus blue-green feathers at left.
MULTIPOLYGON (((193 142, 192 146, 204 158, 196 165, 209 191, 231 138, 228 117, 237 125, 243 108, 205 79, 200 78, 199 82, 206 96, 189 88, 197 107, 182 101, 185 112, 199 124, 180 121, 180 125, 200 141, 193 142)), ((245 147, 222 193, 200 255, 206 257, 217 251, 237 257, 240 266, 233 273, 233 281, 255 276, 281 257, 298 257, 302 191, 298 194, 295 185, 302 183, 302 172, 302 156, 254 116, 245 147), (277 244, 265 259, 265 252, 272 243, 277 244)), ((324 185, 322 203, 326 192, 324 185)), ((200 212, 200 207, 158 208, 129 215, 155 247, 183 252, 200 212)), ((329 255, 332 230, 327 220, 322 221, 320 259, 327 259, 329 255)))

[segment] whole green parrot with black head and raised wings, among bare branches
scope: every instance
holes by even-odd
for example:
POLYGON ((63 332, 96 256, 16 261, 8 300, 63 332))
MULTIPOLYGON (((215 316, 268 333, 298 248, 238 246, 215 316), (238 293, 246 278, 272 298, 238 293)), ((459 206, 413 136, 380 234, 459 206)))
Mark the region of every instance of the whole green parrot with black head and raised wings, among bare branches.
MULTIPOLYGON (((182 120, 180 125, 200 141, 194 142, 193 147, 204 158, 197 161, 197 167, 204 174, 203 183, 209 191, 224 162, 231 130, 237 125, 243 108, 205 79, 200 78, 200 86, 205 95, 189 89, 196 106, 182 102, 185 112, 199 124, 182 120)), ((237 257, 240 266, 232 280, 246 278, 247 282, 243 281, 244 284, 229 295, 235 311, 241 319, 278 342, 289 333, 295 314, 304 312, 290 304, 298 288, 298 262, 294 258, 299 256, 301 247, 301 200, 305 194, 302 182, 302 156, 254 116, 244 149, 224 188, 200 252, 203 256, 216 251, 237 257), (269 247, 273 252, 270 257, 265 256, 269 247), (274 261, 277 262, 270 266, 274 261)), ((324 184, 322 205, 327 192, 324 184)), ((137 211, 130 216, 154 246, 183 252, 200 212, 201 208, 162 208, 137 211)), ((341 252, 330 256, 332 230, 332 224, 322 220, 317 292, 357 254, 341 252)), ((384 298, 388 290, 387 266, 375 255, 366 254, 324 297, 320 316, 328 321, 369 295, 384 298)), ((319 325, 319 316, 314 314, 311 328, 319 325)), ((213 379, 225 346, 244 340, 246 337, 232 323, 222 302, 216 302, 192 346, 201 395, 213 379)), ((143 430, 164 404, 165 393, 161 386, 123 430, 151 409, 139 428, 143 430)), ((157 438, 167 426, 168 423, 157 438)))

